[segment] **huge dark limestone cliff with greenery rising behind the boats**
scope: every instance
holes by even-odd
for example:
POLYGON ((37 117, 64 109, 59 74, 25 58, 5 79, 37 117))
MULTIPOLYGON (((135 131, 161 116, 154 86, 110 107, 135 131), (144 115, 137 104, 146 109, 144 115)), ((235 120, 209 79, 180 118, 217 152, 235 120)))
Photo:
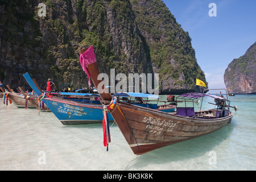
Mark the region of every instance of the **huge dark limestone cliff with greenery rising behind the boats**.
POLYGON ((90 45, 100 72, 159 73, 160 93, 205 81, 188 32, 160 0, 2 0, 0 14, 0 80, 14 89, 29 88, 26 72, 41 88, 49 77, 57 89, 87 86, 79 50, 90 45))

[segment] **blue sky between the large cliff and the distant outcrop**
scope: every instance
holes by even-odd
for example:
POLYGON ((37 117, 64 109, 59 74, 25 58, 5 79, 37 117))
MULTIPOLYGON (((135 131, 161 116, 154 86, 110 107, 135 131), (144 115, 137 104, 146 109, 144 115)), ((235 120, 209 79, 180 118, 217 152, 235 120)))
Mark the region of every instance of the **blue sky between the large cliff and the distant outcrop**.
POLYGON ((255 0, 163 0, 177 23, 189 32, 197 63, 209 89, 225 88, 228 64, 256 42, 255 0), (209 16, 210 3, 217 16, 209 16))

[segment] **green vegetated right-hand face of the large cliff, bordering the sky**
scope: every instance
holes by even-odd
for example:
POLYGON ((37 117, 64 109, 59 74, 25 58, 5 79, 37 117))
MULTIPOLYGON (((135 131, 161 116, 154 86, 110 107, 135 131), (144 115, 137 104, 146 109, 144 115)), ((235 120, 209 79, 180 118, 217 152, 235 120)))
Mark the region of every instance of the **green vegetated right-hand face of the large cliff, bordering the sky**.
POLYGON ((166 5, 158 0, 133 0, 131 3, 160 80, 171 77, 175 85, 182 85, 184 89, 193 88, 196 78, 206 82, 188 32, 176 22, 166 5))

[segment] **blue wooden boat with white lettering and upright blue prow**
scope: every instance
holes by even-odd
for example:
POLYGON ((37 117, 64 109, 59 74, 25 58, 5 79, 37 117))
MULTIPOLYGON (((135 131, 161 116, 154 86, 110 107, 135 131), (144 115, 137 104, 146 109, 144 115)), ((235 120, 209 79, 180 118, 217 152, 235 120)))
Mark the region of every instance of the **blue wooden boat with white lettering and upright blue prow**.
MULTIPOLYGON (((101 104, 75 102, 55 96, 47 97, 42 94, 41 90, 39 90, 34 81, 32 81, 28 73, 25 73, 23 76, 35 93, 38 94, 39 97, 43 97, 42 100, 44 104, 48 106, 63 125, 81 125, 102 122, 103 106, 101 104)), ((108 117, 109 121, 114 121, 112 115, 109 114, 108 117)))

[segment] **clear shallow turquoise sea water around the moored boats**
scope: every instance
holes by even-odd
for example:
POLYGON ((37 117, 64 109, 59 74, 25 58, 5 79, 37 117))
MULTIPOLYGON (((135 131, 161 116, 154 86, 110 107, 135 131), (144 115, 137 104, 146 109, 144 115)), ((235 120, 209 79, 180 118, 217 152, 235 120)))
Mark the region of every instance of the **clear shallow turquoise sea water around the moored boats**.
POLYGON ((38 114, 0 99, 0 170, 255 170, 256 95, 229 99, 238 111, 232 109, 232 122, 222 129, 139 156, 115 123, 107 152, 101 124, 64 126, 49 111, 38 114))

